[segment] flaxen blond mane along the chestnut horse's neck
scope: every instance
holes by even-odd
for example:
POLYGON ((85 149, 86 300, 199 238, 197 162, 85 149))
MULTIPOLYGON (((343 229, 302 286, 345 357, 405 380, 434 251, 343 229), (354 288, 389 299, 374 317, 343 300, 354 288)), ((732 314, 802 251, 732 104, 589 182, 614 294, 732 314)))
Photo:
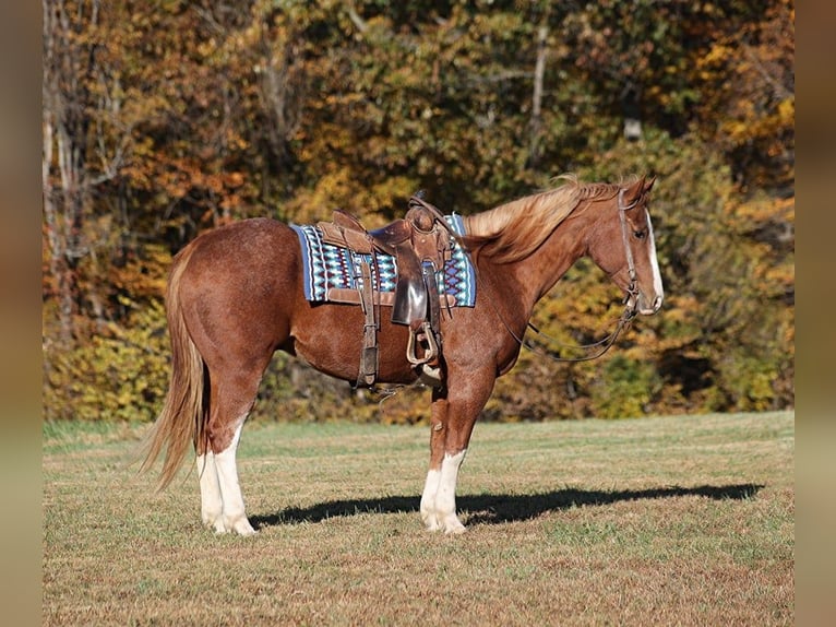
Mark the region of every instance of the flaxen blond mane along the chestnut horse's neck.
POLYGON ((620 187, 583 184, 574 175, 557 177, 560 187, 506 202, 466 216, 467 247, 499 262, 516 261, 534 252, 584 201, 609 199, 620 187))

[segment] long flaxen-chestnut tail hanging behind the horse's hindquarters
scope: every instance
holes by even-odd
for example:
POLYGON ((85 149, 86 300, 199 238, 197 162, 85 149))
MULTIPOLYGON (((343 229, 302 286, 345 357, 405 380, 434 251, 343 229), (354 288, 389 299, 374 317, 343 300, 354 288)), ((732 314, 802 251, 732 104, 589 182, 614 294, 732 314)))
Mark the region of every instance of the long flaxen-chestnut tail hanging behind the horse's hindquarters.
POLYGON ((145 460, 141 472, 147 471, 166 450, 158 488, 175 478, 189 452, 189 445, 205 445, 205 365, 183 320, 180 281, 194 251, 187 247, 175 257, 166 292, 166 316, 171 341, 171 377, 163 411, 145 441, 145 460))

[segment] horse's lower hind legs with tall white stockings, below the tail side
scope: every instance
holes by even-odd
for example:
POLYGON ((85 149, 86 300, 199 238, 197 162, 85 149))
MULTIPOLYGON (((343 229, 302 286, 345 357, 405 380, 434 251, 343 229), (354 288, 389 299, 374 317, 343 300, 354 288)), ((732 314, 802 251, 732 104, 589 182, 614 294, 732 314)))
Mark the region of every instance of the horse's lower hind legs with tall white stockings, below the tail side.
POLYGON ((236 453, 262 371, 263 368, 249 376, 237 372, 226 378, 213 377, 210 372, 211 414, 205 442, 203 447, 199 443, 198 473, 201 518, 204 524, 218 533, 255 533, 244 511, 236 453))

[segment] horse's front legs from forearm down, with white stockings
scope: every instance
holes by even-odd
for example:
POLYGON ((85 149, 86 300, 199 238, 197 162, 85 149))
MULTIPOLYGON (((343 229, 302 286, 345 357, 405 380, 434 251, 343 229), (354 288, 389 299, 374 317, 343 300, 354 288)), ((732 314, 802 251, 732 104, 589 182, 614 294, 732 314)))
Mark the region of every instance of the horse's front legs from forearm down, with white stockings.
POLYGON ((467 454, 476 418, 493 389, 493 376, 455 390, 433 391, 430 470, 421 495, 421 520, 429 531, 464 533, 456 516, 458 470, 467 454))

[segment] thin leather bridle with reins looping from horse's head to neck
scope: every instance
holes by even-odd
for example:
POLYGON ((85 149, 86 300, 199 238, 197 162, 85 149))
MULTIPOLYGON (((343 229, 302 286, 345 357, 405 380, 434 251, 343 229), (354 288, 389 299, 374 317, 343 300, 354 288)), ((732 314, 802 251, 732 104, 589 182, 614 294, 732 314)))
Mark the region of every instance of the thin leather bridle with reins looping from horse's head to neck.
POLYGON ((516 333, 514 333, 514 330, 509 327, 507 322, 505 322, 504 318, 500 315, 500 312, 497 310, 497 306, 492 300, 489 300, 491 305, 493 306, 493 310, 497 314, 497 317, 502 322, 503 327, 505 327, 505 330, 511 334, 511 336, 516 341, 517 344, 521 346, 524 346, 532 351, 533 353, 536 353, 542 357, 547 357, 548 359, 551 359, 552 362, 590 362, 593 359, 597 359, 598 357, 602 356, 607 351, 610 350, 610 346, 616 343, 616 340, 618 340, 619 334, 621 331, 624 330, 625 327, 628 327, 633 318, 636 316, 636 310, 638 308, 638 281, 636 280, 636 271, 635 271, 635 261, 633 260, 633 251, 630 248, 630 234, 626 223, 626 215, 625 213, 636 206, 638 204, 638 201, 641 200, 641 197, 637 198, 635 201, 633 201, 629 205, 624 205, 624 189, 619 190, 619 198, 618 198, 618 211, 619 211, 619 221, 621 223, 621 239, 624 242, 624 251, 626 255, 626 261, 628 261, 628 275, 630 276, 630 284, 626 288, 626 296, 624 297, 624 311, 619 317, 616 329, 606 338, 602 340, 599 340, 598 342, 594 342, 592 344, 581 344, 577 346, 569 346, 565 344, 561 344, 558 342, 554 338, 551 338, 537 329, 532 322, 527 323, 527 328, 532 329, 537 335, 540 335, 545 338, 547 341, 549 341, 552 345, 562 347, 562 348, 573 348, 573 350, 583 350, 587 351, 589 348, 596 348, 600 347, 595 354, 593 355, 585 355, 583 357, 561 357, 559 354, 556 354, 553 351, 550 351, 544 346, 538 346, 536 344, 532 344, 530 342, 526 341, 524 338, 519 338, 516 333), (631 305, 632 301, 632 305, 631 305))

